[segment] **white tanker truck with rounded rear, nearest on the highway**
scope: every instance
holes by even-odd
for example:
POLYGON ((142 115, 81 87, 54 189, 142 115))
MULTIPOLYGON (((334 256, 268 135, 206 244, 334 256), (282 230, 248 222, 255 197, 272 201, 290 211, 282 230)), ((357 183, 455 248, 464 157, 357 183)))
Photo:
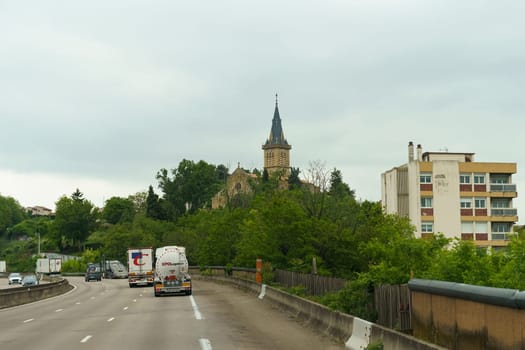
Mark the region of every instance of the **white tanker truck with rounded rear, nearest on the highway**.
POLYGON ((184 293, 191 295, 191 277, 188 274, 186 248, 160 247, 155 250, 155 296, 184 293))

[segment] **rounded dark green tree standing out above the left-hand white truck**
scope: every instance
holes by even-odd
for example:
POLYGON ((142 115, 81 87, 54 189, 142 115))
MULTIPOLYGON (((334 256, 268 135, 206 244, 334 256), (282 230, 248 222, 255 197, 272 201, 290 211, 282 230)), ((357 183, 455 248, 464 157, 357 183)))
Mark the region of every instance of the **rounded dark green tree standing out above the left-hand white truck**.
POLYGON ((53 223, 56 238, 65 242, 66 246, 78 249, 83 248, 84 241, 95 228, 97 218, 93 204, 83 196, 77 189, 71 197, 61 197, 56 203, 53 223))

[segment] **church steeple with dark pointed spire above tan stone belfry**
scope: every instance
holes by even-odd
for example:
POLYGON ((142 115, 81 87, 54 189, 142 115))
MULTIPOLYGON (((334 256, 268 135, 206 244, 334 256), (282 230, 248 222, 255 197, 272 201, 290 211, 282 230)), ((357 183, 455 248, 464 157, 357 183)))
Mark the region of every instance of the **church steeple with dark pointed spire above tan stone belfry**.
POLYGON ((288 144, 284 137, 277 98, 278 95, 275 94, 275 110, 273 112, 270 136, 262 146, 264 150, 264 168, 268 172, 284 170, 285 174, 288 174, 290 169, 290 149, 292 146, 288 144))

